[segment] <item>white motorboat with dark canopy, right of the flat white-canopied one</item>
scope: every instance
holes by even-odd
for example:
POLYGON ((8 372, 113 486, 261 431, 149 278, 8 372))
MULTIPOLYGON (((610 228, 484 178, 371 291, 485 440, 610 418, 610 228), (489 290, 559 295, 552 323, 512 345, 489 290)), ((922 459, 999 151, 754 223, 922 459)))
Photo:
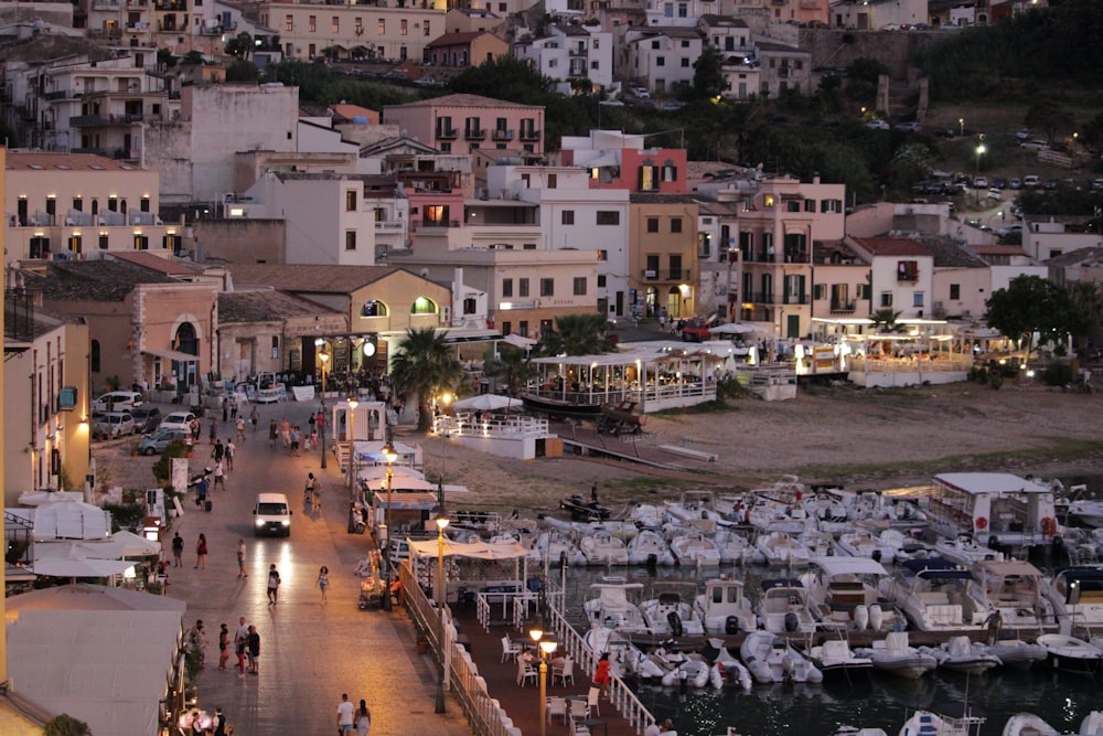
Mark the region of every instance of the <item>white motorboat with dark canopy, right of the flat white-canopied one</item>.
POLYGON ((967 569, 947 559, 909 559, 881 582, 880 593, 920 631, 978 630, 988 612, 970 597, 972 579, 967 569))

